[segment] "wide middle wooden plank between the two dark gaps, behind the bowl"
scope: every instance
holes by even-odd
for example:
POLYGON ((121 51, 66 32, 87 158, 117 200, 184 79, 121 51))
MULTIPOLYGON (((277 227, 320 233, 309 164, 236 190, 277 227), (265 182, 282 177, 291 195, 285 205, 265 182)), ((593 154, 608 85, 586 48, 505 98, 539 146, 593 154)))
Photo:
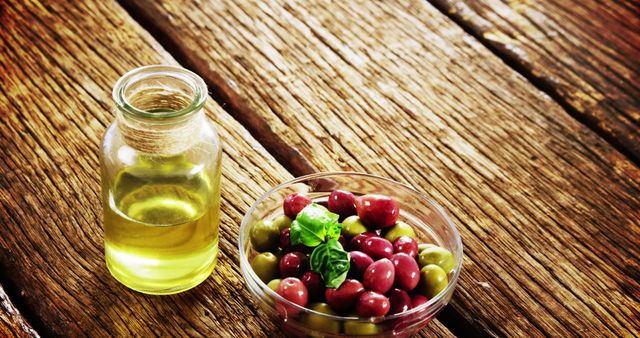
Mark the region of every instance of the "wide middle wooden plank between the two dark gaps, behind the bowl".
POLYGON ((638 335, 638 167, 436 8, 124 2, 312 167, 443 204, 465 244, 453 308, 480 331, 638 335))

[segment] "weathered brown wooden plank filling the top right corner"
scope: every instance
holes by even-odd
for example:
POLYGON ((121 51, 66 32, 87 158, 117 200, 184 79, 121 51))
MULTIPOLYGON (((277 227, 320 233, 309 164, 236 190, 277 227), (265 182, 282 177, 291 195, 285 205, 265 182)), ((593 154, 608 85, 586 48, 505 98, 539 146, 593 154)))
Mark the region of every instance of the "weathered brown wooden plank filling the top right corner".
POLYGON ((640 4, 431 2, 640 163, 640 4))

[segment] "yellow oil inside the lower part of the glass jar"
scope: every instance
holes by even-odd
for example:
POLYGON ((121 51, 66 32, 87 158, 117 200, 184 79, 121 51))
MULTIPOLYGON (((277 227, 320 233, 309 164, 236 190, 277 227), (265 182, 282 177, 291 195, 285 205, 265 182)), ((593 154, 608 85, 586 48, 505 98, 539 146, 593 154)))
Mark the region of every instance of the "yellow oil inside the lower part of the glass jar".
POLYGON ((213 271, 220 176, 218 170, 210 180, 197 169, 173 162, 118 174, 105 206, 105 255, 122 284, 172 294, 197 286, 213 271))

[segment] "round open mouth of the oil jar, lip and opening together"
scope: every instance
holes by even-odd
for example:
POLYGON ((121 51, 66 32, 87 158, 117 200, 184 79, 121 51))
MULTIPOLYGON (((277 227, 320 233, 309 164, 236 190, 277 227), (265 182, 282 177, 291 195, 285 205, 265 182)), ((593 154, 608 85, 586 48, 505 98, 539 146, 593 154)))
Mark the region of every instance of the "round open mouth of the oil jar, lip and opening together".
POLYGON ((200 76, 166 65, 133 69, 113 87, 113 100, 120 111, 152 119, 196 112, 204 106, 207 94, 207 86, 200 76))

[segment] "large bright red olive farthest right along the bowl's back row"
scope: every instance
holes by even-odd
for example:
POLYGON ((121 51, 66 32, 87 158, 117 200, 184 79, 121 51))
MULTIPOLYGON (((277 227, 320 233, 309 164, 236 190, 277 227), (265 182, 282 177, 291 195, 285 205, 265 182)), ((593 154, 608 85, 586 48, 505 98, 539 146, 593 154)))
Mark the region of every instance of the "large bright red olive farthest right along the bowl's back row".
POLYGON ((383 195, 364 195, 356 198, 356 210, 360 220, 374 228, 393 226, 400 213, 396 201, 383 195))

